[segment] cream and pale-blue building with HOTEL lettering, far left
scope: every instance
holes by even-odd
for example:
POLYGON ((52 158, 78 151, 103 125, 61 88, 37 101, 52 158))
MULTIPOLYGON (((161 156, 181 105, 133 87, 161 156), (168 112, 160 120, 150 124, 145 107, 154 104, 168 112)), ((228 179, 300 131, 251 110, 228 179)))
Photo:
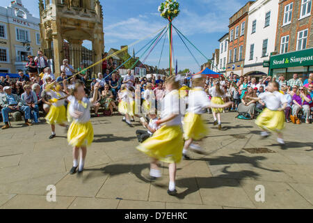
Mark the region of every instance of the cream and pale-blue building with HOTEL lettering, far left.
POLYGON ((36 55, 40 49, 39 22, 22 0, 0 7, 0 73, 26 70, 27 56, 36 55))

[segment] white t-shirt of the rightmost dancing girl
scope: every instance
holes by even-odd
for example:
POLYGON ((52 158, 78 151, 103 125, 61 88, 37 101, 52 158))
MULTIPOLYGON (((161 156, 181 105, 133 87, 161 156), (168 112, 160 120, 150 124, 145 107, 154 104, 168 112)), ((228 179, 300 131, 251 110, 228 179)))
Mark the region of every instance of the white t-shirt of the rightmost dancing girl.
POLYGON ((266 91, 259 94, 259 98, 263 100, 266 107, 272 111, 277 111, 284 103, 287 103, 284 95, 278 91, 274 91, 273 93, 266 91))

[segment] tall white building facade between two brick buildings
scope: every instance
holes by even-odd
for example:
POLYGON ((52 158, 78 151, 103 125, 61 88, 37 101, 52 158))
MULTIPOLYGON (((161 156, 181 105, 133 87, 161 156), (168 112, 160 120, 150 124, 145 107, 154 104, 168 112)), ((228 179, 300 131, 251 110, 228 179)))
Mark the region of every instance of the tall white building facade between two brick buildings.
POLYGON ((244 75, 268 74, 263 62, 275 51, 279 1, 257 0, 249 8, 244 75))

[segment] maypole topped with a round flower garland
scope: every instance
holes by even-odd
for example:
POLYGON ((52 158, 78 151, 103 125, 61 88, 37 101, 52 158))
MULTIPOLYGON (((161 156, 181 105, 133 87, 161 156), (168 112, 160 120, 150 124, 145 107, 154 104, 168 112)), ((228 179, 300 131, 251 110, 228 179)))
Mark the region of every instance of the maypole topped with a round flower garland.
POLYGON ((170 42, 170 75, 172 75, 172 20, 179 15, 179 3, 176 0, 166 0, 161 3, 161 6, 158 8, 161 13, 161 17, 168 20, 168 40, 170 42))

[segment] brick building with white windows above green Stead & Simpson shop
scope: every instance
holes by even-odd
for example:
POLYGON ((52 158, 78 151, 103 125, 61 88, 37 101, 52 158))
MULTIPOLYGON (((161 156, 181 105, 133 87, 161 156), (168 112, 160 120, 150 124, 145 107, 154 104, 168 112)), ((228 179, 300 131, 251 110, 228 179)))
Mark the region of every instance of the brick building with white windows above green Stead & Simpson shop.
POLYGON ((275 52, 270 60, 274 77, 294 73, 306 79, 313 72, 312 0, 281 0, 275 52))

